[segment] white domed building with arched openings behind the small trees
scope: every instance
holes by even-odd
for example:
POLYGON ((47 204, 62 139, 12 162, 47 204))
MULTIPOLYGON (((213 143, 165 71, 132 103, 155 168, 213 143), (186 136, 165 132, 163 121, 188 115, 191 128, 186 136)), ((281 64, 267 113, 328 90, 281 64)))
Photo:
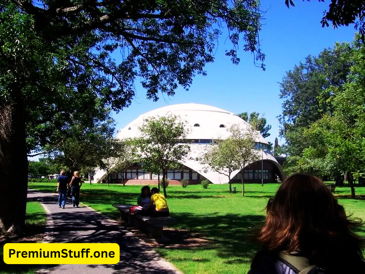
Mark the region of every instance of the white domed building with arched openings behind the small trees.
MULTIPOLYGON (((139 127, 148 117, 162 117, 166 115, 175 115, 185 121, 189 132, 185 139, 190 145, 190 153, 185 160, 181 162, 182 170, 171 170, 167 177, 170 184, 180 184, 181 179, 187 179, 190 184, 198 183, 206 178, 214 184, 228 183, 228 176, 207 169, 196 160, 206 151, 207 145, 211 145, 214 140, 225 139, 230 136, 229 129, 233 125, 238 125, 241 129, 248 129, 251 126, 243 119, 232 112, 202 104, 178 104, 162 107, 145 114, 140 115, 137 119, 129 123, 125 128, 120 130, 117 138, 125 139, 140 137, 139 127)), ((261 182, 263 174, 264 182, 274 182, 279 177, 283 179, 284 174, 281 166, 268 149, 268 142, 258 133, 256 137, 257 153, 260 160, 250 163, 244 169, 244 179, 246 182, 261 182), (261 166, 263 165, 263 171, 261 166)), ((232 173, 232 182, 241 180, 240 170, 232 173)), ((94 181, 100 181, 104 178, 105 172, 98 171, 94 176, 94 181)), ((126 179, 126 184, 153 185, 157 184, 158 176, 146 173, 142 170, 140 164, 135 164, 122 173, 115 173, 111 176, 114 183, 122 183, 122 178, 126 179)))

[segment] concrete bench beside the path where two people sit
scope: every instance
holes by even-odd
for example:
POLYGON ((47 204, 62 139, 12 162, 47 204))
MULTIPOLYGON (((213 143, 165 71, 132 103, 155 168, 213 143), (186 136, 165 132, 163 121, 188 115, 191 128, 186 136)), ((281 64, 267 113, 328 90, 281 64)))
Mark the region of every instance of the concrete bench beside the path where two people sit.
POLYGON ((163 228, 170 226, 176 222, 172 217, 151 217, 141 215, 131 215, 128 209, 133 205, 114 205, 121 212, 121 219, 127 226, 134 226, 136 229, 148 233, 153 239, 161 239, 163 236, 163 228))

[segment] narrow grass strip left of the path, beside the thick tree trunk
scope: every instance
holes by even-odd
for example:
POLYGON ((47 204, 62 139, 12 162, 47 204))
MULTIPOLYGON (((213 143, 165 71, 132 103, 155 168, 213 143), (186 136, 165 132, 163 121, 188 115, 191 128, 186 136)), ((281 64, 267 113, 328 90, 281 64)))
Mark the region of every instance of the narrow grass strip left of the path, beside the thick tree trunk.
POLYGON ((28 242, 34 240, 32 236, 43 233, 46 224, 46 211, 38 202, 28 202, 26 209, 25 235, 12 239, 3 239, 0 242, 0 274, 33 274, 36 273, 36 265, 6 265, 3 261, 3 245, 7 242, 28 242))

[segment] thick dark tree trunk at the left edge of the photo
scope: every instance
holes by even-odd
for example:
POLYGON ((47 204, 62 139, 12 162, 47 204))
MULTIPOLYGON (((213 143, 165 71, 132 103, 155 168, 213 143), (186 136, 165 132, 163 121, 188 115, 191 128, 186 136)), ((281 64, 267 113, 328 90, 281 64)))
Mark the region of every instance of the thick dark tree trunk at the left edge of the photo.
POLYGON ((15 101, 0 102, 0 230, 9 232, 25 224, 28 188, 25 111, 15 101))

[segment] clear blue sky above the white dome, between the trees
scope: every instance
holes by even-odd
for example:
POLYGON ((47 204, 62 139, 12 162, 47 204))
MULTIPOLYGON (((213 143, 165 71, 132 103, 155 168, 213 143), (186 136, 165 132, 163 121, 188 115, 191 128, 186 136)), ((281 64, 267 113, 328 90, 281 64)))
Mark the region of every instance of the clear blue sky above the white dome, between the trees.
MULTIPOLYGON (((285 72, 293 69, 308 55, 316 56, 335 42, 351 42, 355 36, 353 26, 332 29, 322 28, 320 20, 329 1, 296 0, 296 6, 288 9, 285 0, 262 0, 265 10, 260 32, 262 51, 266 54, 266 70, 253 64, 253 56, 241 53, 241 63, 236 66, 224 55, 230 47, 225 38, 219 41, 215 62, 205 67, 207 76, 193 79, 189 91, 176 90, 173 97, 160 96, 158 102, 145 99, 145 90, 138 83, 136 97, 131 106, 113 117, 116 130, 122 129, 139 115, 167 105, 198 103, 212 105, 233 113, 256 111, 264 115, 272 126, 268 141, 278 137, 277 116, 281 114, 282 99, 279 98, 279 83, 285 72)), ((284 139, 279 143, 285 142, 284 139)))

